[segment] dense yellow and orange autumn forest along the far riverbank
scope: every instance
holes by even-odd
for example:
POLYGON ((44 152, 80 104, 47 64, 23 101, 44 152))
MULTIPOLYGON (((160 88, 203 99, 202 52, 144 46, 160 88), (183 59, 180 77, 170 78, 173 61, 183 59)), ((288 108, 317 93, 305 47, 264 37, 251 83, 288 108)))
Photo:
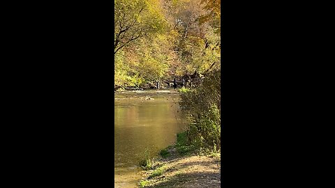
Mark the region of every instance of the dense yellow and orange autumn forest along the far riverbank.
POLYGON ((220 70, 220 3, 114 0, 114 90, 181 78, 197 86, 197 78, 220 70))

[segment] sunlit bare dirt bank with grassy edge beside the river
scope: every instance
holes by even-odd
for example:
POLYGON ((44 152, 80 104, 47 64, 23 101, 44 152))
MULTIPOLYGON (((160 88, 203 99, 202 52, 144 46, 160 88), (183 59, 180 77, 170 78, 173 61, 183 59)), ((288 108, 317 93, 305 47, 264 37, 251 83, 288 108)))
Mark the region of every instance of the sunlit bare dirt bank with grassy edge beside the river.
POLYGON ((220 187, 221 159, 220 156, 191 155, 180 157, 174 147, 165 159, 158 159, 156 168, 142 171, 140 187, 220 187), (159 173, 161 172, 161 173, 159 173))

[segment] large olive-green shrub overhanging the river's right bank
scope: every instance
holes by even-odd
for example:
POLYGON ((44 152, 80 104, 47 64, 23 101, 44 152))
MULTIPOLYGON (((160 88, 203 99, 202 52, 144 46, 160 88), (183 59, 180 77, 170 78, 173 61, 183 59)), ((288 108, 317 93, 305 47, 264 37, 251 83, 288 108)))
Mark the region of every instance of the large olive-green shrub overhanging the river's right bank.
POLYGON ((181 109, 190 121, 188 141, 200 147, 221 146, 221 75, 214 70, 197 88, 180 91, 181 109))

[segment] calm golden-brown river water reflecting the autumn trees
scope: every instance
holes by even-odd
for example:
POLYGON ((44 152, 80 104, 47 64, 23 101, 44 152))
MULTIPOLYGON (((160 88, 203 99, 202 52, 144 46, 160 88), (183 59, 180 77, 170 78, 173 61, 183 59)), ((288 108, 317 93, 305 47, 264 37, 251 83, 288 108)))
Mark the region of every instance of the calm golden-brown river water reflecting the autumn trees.
POLYGON ((174 90, 114 94, 114 185, 137 187, 138 162, 148 148, 158 153, 174 143, 184 128, 174 90), (154 100, 147 100, 148 98, 154 100))

